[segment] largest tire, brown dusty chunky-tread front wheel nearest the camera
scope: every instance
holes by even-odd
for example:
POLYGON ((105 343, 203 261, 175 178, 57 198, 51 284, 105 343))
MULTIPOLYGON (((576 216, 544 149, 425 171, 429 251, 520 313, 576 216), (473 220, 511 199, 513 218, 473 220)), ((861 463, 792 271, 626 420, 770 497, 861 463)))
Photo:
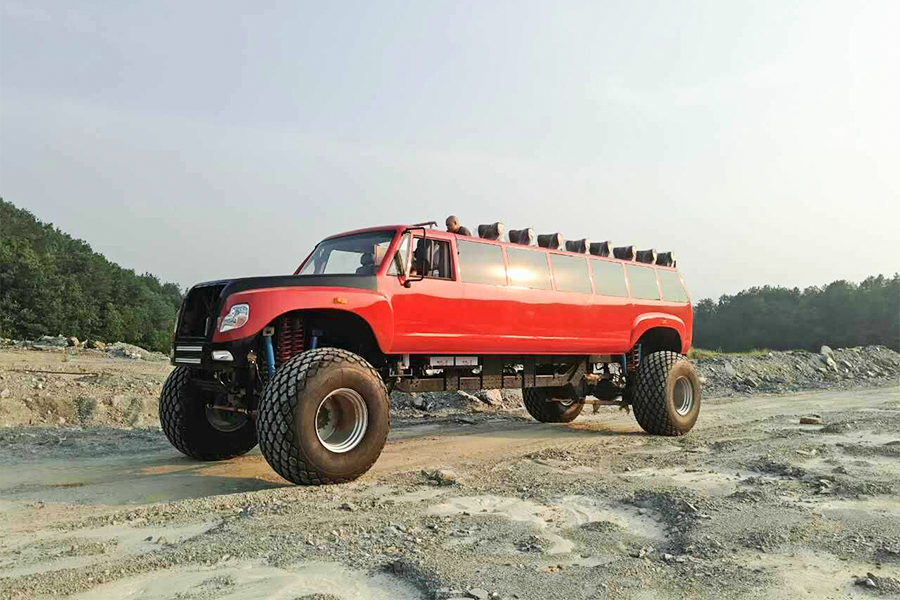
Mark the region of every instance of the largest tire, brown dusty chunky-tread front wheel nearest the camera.
POLYGON ((259 402, 259 448, 293 483, 344 483, 369 470, 390 430, 390 396, 365 359, 308 350, 278 368, 259 402))

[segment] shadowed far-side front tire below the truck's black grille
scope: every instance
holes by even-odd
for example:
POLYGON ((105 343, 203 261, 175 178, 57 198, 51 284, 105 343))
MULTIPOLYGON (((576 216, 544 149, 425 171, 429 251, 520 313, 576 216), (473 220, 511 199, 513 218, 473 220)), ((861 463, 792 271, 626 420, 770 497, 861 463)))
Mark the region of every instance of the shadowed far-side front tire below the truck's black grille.
POLYGON ((188 367, 176 367, 159 395, 159 422, 169 442, 197 460, 224 460, 252 450, 253 420, 241 413, 208 410, 214 395, 192 387, 191 376, 188 367))

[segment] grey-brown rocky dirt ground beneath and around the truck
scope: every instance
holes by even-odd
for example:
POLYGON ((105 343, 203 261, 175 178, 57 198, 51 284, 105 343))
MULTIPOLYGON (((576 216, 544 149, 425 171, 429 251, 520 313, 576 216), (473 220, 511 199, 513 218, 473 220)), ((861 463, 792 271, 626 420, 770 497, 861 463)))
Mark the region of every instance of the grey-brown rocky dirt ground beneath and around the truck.
POLYGON ((125 377, 26 381, 34 358, 0 355, 0 387, 117 425, 0 428, 0 598, 900 598, 896 385, 704 399, 683 438, 613 408, 403 411, 369 474, 304 488, 128 416, 167 365, 66 365, 125 377))

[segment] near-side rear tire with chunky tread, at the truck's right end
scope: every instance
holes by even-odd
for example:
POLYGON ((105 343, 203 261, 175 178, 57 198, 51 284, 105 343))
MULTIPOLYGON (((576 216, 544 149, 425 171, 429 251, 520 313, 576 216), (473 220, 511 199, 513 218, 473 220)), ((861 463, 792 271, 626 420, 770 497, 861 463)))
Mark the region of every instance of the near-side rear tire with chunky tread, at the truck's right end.
POLYGON ((657 435, 684 435, 700 415, 700 379, 682 354, 664 350, 644 357, 632 395, 641 428, 657 435))

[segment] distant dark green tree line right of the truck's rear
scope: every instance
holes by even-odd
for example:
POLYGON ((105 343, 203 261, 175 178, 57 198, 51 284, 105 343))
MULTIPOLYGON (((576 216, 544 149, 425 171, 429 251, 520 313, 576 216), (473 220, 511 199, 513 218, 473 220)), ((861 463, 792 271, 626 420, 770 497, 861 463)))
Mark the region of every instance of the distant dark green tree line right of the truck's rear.
POLYGON ((725 352, 880 344, 900 351, 900 274, 823 287, 753 287, 694 307, 694 346, 725 352))

